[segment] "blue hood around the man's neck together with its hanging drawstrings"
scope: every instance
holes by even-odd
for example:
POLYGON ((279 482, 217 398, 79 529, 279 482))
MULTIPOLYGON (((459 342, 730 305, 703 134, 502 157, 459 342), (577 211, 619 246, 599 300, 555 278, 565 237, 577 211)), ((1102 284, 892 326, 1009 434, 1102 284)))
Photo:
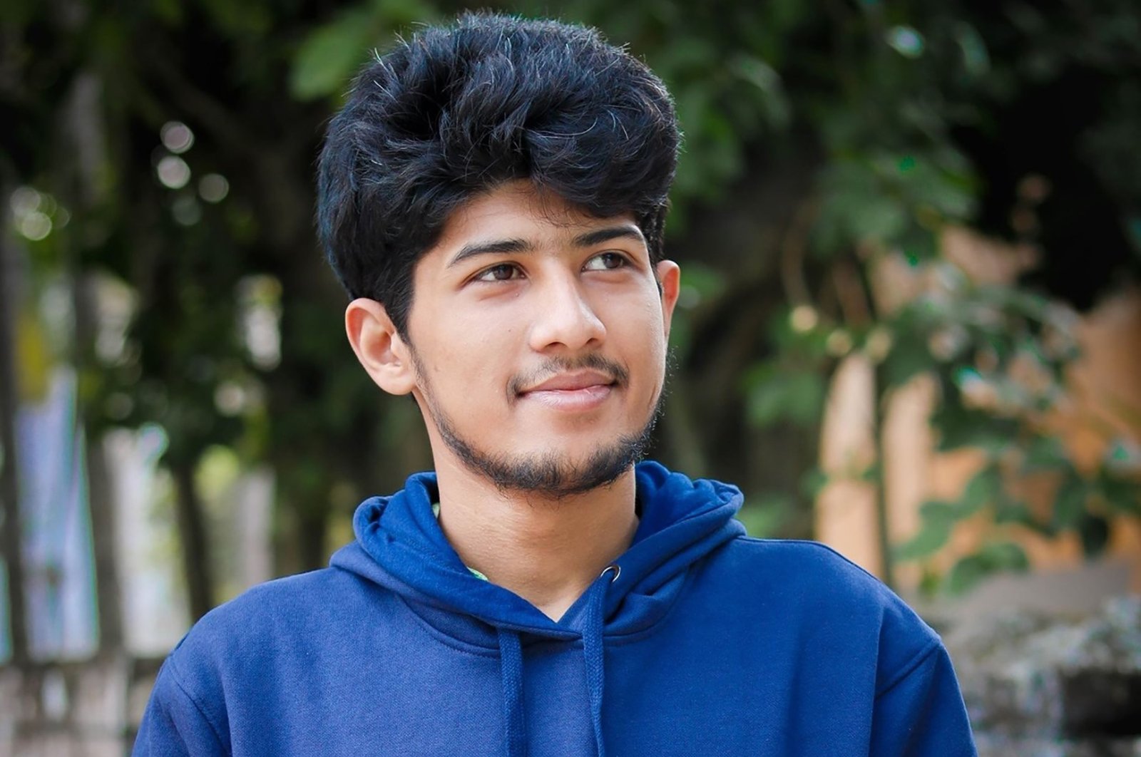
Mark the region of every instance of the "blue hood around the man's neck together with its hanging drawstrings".
POLYGON ((432 473, 412 475, 391 497, 363 502, 353 518, 357 539, 333 555, 332 565, 410 600, 442 633, 499 648, 509 757, 527 754, 521 637, 581 638, 596 754, 605 757, 606 637, 661 619, 681 592, 688 568, 745 532, 733 518, 742 503, 736 487, 691 481, 657 463, 639 464, 634 475, 640 519, 630 548, 557 621, 467 569, 432 513, 439 496, 432 473))

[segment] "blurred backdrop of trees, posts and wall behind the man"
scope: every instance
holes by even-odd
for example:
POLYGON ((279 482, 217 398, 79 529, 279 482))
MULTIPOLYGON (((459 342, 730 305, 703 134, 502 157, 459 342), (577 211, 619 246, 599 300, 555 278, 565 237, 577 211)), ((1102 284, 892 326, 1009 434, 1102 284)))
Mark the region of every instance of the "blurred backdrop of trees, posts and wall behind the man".
MULTIPOLYGON (((122 754, 194 619, 430 467, 346 343, 313 185, 372 50, 467 7, 0 8, 0 752, 122 754)), ((1141 6, 491 7, 596 25, 677 99, 654 456, 940 629, 1135 634, 1141 707, 1141 6)), ((980 728, 1082 736, 1003 731, 962 665, 980 728)))

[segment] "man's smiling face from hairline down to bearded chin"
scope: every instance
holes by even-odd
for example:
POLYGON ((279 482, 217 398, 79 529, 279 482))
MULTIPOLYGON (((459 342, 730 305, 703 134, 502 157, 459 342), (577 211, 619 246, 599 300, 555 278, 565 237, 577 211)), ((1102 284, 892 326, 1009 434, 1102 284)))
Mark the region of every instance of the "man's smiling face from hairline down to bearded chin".
POLYGON ((502 488, 553 495, 629 470, 678 293, 678 267, 650 264, 632 215, 592 218, 511 182, 452 214, 413 285, 413 393, 437 466, 451 455, 502 488))

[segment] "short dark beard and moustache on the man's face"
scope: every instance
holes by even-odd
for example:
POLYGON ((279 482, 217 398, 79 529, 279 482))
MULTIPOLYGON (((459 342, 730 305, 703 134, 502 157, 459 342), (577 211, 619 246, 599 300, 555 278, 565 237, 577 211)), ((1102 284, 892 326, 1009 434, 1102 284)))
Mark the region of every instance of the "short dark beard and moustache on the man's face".
MULTIPOLYGON (((663 388, 659 389, 654 409, 641 430, 617 437, 610 443, 598 447, 580 462, 568 461, 555 451, 529 456, 491 454, 460 433, 452 418, 436 402, 431 388, 427 383, 428 374, 421 369, 414 350, 412 350, 412 356, 416 371, 424 382, 421 386, 421 393, 428 406, 427 414, 436 424, 440 439, 468 470, 486 478, 501 491, 534 493, 547 497, 563 498, 614 483, 646 454, 654 436, 654 426, 662 414, 665 397, 663 377, 663 388)), ((626 383, 628 376, 624 369, 597 356, 585 356, 575 361, 551 361, 547 369, 553 373, 558 369, 573 371, 583 367, 608 369, 615 376, 618 385, 626 383)), ((512 385, 524 382, 512 381, 512 385)))

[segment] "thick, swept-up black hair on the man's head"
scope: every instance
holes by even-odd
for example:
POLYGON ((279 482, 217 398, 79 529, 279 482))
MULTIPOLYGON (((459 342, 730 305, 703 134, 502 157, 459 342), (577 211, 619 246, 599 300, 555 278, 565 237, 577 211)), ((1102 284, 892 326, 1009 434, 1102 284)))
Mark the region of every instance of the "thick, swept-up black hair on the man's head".
POLYGON ((632 213, 661 260, 679 140, 665 86, 597 31, 468 14, 362 70, 321 153, 318 233, 349 295, 406 335, 416 261, 452 211, 505 181, 632 213))

